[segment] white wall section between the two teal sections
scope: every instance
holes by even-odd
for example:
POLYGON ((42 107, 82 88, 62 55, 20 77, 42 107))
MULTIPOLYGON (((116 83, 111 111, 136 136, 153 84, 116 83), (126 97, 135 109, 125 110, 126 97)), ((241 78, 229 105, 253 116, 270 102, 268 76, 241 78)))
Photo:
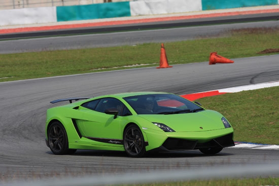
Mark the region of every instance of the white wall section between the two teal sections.
POLYGON ((201 11, 201 1, 142 0, 130 2, 131 16, 201 11))

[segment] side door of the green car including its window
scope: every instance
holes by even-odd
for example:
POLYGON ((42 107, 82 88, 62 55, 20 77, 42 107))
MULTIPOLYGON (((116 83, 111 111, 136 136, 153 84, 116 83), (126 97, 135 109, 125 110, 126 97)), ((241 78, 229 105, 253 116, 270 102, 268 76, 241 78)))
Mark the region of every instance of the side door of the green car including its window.
POLYGON ((101 142, 120 143, 123 135, 120 131, 120 126, 121 122, 125 121, 121 115, 123 110, 127 110, 121 101, 109 97, 94 100, 82 106, 85 107, 83 120, 78 121, 77 124, 84 137, 101 142), (114 115, 104 113, 109 108, 119 109, 116 118, 114 115))

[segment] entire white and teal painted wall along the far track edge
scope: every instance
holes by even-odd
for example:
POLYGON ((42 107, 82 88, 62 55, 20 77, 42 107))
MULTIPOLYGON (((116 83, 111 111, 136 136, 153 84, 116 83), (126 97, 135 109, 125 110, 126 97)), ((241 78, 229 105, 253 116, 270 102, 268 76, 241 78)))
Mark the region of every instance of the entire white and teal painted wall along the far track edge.
POLYGON ((0 26, 278 5, 279 0, 139 0, 0 11, 0 26))

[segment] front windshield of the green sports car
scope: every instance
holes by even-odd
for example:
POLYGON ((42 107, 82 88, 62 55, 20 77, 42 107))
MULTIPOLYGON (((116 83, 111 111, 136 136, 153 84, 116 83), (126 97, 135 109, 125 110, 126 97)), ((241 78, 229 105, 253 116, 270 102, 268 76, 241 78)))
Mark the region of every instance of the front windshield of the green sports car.
POLYGON ((203 108, 175 94, 148 94, 125 97, 137 114, 180 114, 201 111, 203 108))

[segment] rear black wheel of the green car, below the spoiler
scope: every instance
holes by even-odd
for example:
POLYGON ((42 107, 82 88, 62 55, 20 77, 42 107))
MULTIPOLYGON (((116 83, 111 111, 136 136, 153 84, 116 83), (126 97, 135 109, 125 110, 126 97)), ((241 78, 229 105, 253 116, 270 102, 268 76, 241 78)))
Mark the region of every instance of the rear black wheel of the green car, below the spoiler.
POLYGON ((50 150, 55 155, 73 154, 77 150, 68 148, 68 137, 63 125, 55 121, 48 128, 50 150))

